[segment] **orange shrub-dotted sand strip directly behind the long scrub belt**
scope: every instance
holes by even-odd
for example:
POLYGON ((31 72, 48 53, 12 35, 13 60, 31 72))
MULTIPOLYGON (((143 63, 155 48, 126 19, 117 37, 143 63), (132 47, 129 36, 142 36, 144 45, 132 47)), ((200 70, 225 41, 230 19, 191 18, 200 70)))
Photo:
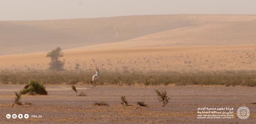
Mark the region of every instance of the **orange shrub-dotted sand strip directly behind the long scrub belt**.
MULTIPOLYGON (((256 45, 170 46, 64 51, 65 69, 128 70, 255 70, 256 45)), ((47 69, 47 53, 0 56, 1 69, 47 69)))

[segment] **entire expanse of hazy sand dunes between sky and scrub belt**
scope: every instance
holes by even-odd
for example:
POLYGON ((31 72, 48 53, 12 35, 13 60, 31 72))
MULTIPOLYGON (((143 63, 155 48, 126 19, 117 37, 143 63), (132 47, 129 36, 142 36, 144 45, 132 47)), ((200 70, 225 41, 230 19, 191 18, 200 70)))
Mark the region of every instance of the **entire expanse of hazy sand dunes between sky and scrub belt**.
POLYGON ((60 46, 65 69, 253 70, 255 15, 147 15, 2 21, 1 69, 47 69, 60 46), (40 52, 40 53, 32 53, 40 52), (7 54, 20 55, 7 55, 7 54), (30 53, 30 54, 22 54, 30 53))

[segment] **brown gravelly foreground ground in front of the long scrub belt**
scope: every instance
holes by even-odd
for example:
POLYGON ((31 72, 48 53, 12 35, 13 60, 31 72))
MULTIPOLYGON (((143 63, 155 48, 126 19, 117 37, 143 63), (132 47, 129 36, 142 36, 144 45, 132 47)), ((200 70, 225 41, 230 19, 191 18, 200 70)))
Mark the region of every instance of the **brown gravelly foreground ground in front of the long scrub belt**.
POLYGON ((77 86, 78 92, 87 96, 76 96, 70 86, 47 85, 47 96, 22 96, 21 101, 32 105, 11 107, 14 91, 22 85, 0 86, 0 123, 183 123, 183 124, 255 124, 256 102, 255 87, 225 86, 77 86), (155 89, 167 90, 171 98, 166 107, 161 107, 155 89), (126 96, 132 106, 122 106, 120 96, 126 96), (104 101, 110 106, 93 106, 94 101, 104 101), (148 107, 137 106, 144 101, 148 107), (250 109, 246 120, 198 119, 198 107, 238 107, 250 109), (7 113, 41 115, 42 118, 7 119, 7 113))

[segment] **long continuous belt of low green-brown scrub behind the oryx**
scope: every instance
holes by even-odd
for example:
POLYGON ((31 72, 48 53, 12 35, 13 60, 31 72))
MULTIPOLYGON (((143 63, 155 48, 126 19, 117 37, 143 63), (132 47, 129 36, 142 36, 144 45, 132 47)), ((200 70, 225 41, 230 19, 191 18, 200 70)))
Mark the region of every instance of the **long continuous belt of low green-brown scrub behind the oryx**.
MULTIPOLYGON (((94 68, 93 68, 94 69, 94 68)), ((47 70, 0 70, 0 83, 24 84, 30 79, 43 84, 76 85, 78 82, 90 84, 94 70, 64 70, 59 72, 47 70)), ((212 71, 212 72, 141 72, 130 73, 105 70, 99 85, 226 85, 256 86, 256 71, 212 71), (148 80, 147 80, 148 79, 148 80)))

